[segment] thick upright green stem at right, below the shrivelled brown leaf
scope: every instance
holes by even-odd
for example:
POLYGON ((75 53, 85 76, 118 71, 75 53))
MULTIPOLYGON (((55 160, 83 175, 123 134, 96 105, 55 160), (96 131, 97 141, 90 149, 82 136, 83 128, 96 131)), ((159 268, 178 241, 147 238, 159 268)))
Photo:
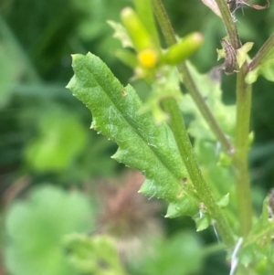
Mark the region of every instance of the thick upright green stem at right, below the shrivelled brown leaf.
POLYGON ((237 208, 240 236, 247 236, 252 227, 251 191, 248 173, 249 123, 252 89, 245 82, 248 72, 245 64, 237 73, 237 122, 233 164, 236 177, 237 208))

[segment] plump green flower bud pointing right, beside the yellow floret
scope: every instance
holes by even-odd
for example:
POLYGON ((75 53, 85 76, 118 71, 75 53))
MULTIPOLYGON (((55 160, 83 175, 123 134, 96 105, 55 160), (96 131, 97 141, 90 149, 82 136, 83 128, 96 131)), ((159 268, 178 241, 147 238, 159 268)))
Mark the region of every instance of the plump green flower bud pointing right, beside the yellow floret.
POLYGON ((201 47, 204 42, 204 37, 200 33, 192 33, 184 37, 163 55, 163 63, 176 65, 184 59, 189 58, 195 51, 201 47))

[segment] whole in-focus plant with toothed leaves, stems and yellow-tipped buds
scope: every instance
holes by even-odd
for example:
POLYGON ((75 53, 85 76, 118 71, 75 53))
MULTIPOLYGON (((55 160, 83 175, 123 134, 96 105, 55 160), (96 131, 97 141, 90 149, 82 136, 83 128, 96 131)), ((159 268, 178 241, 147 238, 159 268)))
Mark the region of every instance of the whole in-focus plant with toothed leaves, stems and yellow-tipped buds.
POLYGON ((75 75, 68 89, 90 109, 91 128, 119 145, 112 158, 145 175, 140 193, 168 202, 166 217, 193 217, 197 231, 213 227, 227 250, 231 275, 274 274, 274 198, 266 197, 256 217, 248 172, 252 84, 258 75, 274 81, 274 34, 250 58, 253 43, 242 45, 235 16, 244 5, 263 9, 269 3, 202 1, 227 30, 217 49, 225 58, 218 70, 237 74, 236 106, 222 103, 218 79, 201 75, 186 60, 203 36, 176 37, 161 0, 136 0, 135 10, 121 11, 121 23, 109 22, 123 46, 117 58, 134 69, 133 79, 151 87, 145 102, 91 53, 72 56, 75 75), (160 44, 154 18, 167 48, 160 44), (186 127, 189 114, 193 120, 186 127))

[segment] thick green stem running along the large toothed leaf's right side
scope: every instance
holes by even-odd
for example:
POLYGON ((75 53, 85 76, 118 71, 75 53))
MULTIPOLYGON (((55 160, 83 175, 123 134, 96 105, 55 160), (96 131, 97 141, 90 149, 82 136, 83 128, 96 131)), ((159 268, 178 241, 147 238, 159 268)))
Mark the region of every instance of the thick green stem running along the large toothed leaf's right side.
POLYGON ((220 236, 223 238, 224 243, 227 246, 232 246, 234 244, 234 239, 231 228, 229 227, 222 210, 216 205, 216 200, 212 195, 210 188, 205 183, 205 178, 202 175, 195 158, 195 153, 193 152, 192 144, 190 143, 184 125, 182 113, 176 100, 174 98, 163 100, 163 108, 170 115, 170 126, 174 132, 175 141, 191 181, 208 212, 211 214, 211 217, 216 220, 216 227, 220 236))

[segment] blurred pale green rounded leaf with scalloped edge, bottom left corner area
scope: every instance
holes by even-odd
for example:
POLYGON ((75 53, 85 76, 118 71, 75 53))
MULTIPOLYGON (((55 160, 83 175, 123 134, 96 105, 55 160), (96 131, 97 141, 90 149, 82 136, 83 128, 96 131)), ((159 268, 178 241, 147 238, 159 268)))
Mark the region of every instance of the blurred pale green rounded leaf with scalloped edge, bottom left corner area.
POLYGON ((14 275, 75 275, 61 248, 62 238, 93 226, 90 202, 79 193, 44 186, 6 213, 7 269, 14 275))

